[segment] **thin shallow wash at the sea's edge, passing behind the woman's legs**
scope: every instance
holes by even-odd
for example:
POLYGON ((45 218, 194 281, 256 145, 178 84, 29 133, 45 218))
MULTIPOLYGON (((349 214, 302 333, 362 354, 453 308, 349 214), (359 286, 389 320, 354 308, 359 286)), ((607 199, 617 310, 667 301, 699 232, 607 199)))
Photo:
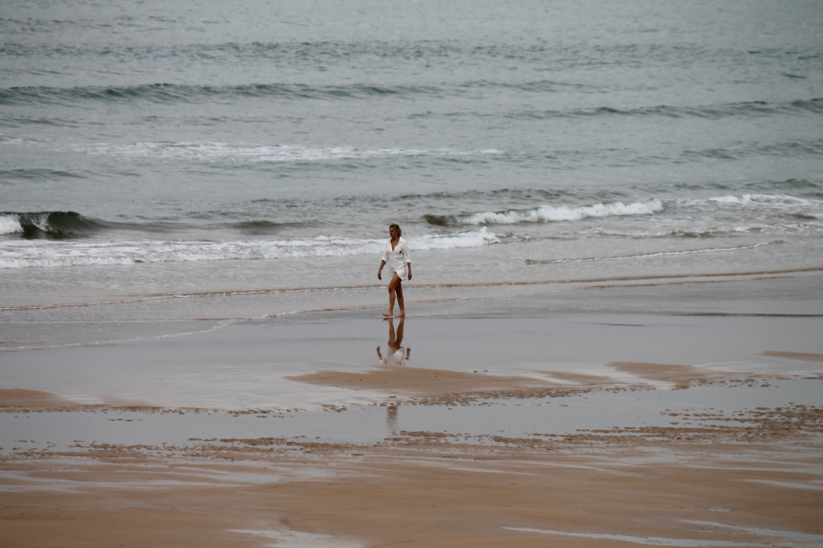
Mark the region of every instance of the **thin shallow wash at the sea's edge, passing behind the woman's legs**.
MULTIPOLYGON (((823 277, 823 267, 808 267, 803 269, 778 269, 778 270, 760 270, 745 273, 710 273, 710 274, 669 274, 665 276, 642 275, 642 276, 624 276, 611 278, 597 278, 597 279, 551 279, 538 281, 515 281, 515 282, 487 282, 487 283, 445 283, 445 284, 426 284, 417 283, 412 284, 409 288, 415 293, 407 297, 409 306, 426 306, 439 305, 447 303, 458 302, 481 302, 489 300, 500 299, 518 299, 523 297, 547 297, 566 292, 581 292, 587 290, 602 290, 607 288, 651 288, 663 287, 672 285, 689 285, 699 283, 740 283, 746 281, 769 280, 769 279, 813 279, 823 277), (821 274, 815 274, 820 272, 821 274), (792 276, 786 274, 795 274, 792 276), (487 293, 491 294, 472 294, 463 296, 453 296, 453 292, 461 290, 472 290, 477 288, 485 288, 487 293), (521 291, 517 293, 506 292, 506 288, 533 288, 533 291, 521 291), (541 288, 541 289, 537 289, 541 288), (437 292, 448 291, 452 296, 438 296, 437 292), (502 291, 502 292, 501 292, 502 291), (423 292, 424 295, 419 295, 423 292), (425 294, 428 292, 429 294, 425 294), (495 294, 495 292, 497 292, 495 294)), ((105 338, 105 339, 89 339, 87 334, 91 332, 88 326, 83 326, 82 333, 76 341, 58 342, 44 340, 41 343, 30 342, 15 342, 13 340, 0 341, 0 352, 28 350, 31 348, 58 348, 68 346, 85 346, 93 344, 111 344, 111 343, 127 343, 132 341, 148 340, 152 338, 167 338, 167 337, 183 337, 190 334, 208 333, 217 329, 223 329, 228 325, 233 325, 238 322, 248 322, 255 320, 268 320, 285 318, 294 315, 312 315, 318 313, 328 312, 344 312, 344 311, 367 311, 370 309, 381 308, 385 306, 382 299, 377 298, 363 298, 357 296, 360 292, 374 292, 375 290, 384 291, 384 285, 372 286, 346 286, 346 287, 330 287, 330 288, 276 288, 276 289, 248 289, 235 291, 216 291, 216 292, 184 292, 184 293, 170 293, 170 294, 151 294, 143 297, 124 297, 115 298, 108 301, 94 301, 94 302, 64 302, 59 304, 44 304, 44 305, 25 305, 25 306, 3 306, 0 307, 0 312, 5 312, 9 320, 12 321, 14 314, 23 315, 19 320, 26 321, 26 335, 36 334, 40 338, 54 338, 54 329, 51 325, 55 320, 58 323, 72 323, 72 320, 63 319, 63 315, 67 314, 68 310, 72 309, 86 309, 94 310, 95 317, 91 320, 92 324, 99 323, 100 325, 107 325, 107 331, 111 329, 120 329, 123 331, 119 338, 105 338), (342 292, 346 295, 343 300, 346 301, 354 299, 352 302, 358 304, 338 303, 340 306, 312 306, 309 302, 303 302, 300 310, 292 311, 278 311, 274 313, 262 313, 261 315, 219 315, 214 314, 218 311, 226 311, 226 298, 235 297, 238 302, 233 306, 229 306, 230 311, 248 311, 249 303, 245 302, 247 297, 278 297, 286 294, 299 294, 307 296, 310 293, 325 294, 326 292, 342 292), (352 293, 351 295, 349 293, 352 293), (205 304, 207 301, 214 301, 211 305, 201 305, 195 310, 188 308, 180 308, 179 302, 185 301, 200 301, 205 304), (364 303, 365 301, 365 303, 364 303), (372 302, 370 302, 372 301, 372 302), (378 304, 379 302, 379 304, 378 304), (219 304, 218 304, 219 303, 219 304), (306 306, 306 305, 309 306, 306 306), (162 306, 158 312, 156 308, 150 310, 135 310, 133 306, 162 306), (128 311, 122 307, 129 307, 128 311), (115 311, 116 309, 116 311, 115 311), (235 310, 236 309, 236 310, 235 310), (34 315, 42 315, 40 318, 34 315), (58 314, 54 318, 49 315, 58 314), (122 326, 112 326, 112 320, 109 316, 121 317, 128 315, 132 318, 125 322, 122 326), (169 315, 175 315, 175 320, 168 320, 169 315), (30 316, 30 317, 26 317, 30 316), (98 319, 99 316, 99 319, 98 319), (178 325, 185 322, 189 330, 180 330, 178 325), (203 322, 211 322, 206 329, 198 328, 203 322), (44 328, 39 328, 38 323, 44 325, 44 328), (160 333, 146 333, 138 335, 137 337, 129 337, 126 332, 133 332, 135 329, 141 329, 141 324, 162 325, 160 333), (44 330, 45 329, 45 330, 44 330), (82 340, 86 338, 86 340, 82 340)), ((258 308, 259 305, 253 306, 258 308)), ((674 313, 674 312, 670 312, 674 313)), ((759 312, 760 315, 770 315, 768 312, 759 312)), ((778 313, 779 315, 779 313, 778 313)), ((802 314, 802 315, 823 315, 821 313, 802 314)), ((84 320, 88 323, 88 320, 84 320)), ((7 333, 13 333, 16 329, 11 329, 7 333)), ((145 330, 145 328, 143 328, 145 330)), ((100 330, 100 329, 98 329, 100 330)), ((21 332, 23 333, 23 332, 21 332)), ((79 334, 79 333, 78 333, 79 334)), ((7 335, 8 336, 8 335, 7 335)), ((57 335, 60 336, 60 335, 57 335)))

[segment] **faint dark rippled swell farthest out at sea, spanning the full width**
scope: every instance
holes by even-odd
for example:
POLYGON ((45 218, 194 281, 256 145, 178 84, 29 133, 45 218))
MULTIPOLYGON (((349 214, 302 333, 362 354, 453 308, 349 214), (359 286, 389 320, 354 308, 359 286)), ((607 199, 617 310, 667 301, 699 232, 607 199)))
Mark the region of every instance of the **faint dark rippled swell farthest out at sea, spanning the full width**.
MULTIPOLYGON (((129 21, 130 25, 140 26, 137 21, 129 21)), ((154 23, 152 22, 153 26, 154 23)), ((0 26, 9 35, 44 31, 54 32, 76 27, 81 29, 99 30, 97 21, 58 21, 51 18, 44 20, 2 19, 0 26), (25 30, 24 30, 25 29, 25 30)), ((144 29, 148 30, 148 29, 144 29)), ((139 31, 138 31, 139 32, 139 31)), ((0 54, 12 58, 114 58, 119 62, 145 61, 146 59, 174 59, 193 62, 268 62, 278 66, 291 66, 317 62, 319 64, 334 64, 337 62, 360 63, 385 62, 396 65, 398 62, 416 62, 423 60, 432 62, 437 60, 458 59, 459 61, 489 62, 495 59, 507 62, 520 62, 542 70, 558 70, 568 67, 577 67, 579 63, 596 66, 620 62, 658 62, 680 63, 693 60, 698 56, 705 57, 707 50, 704 44, 613 44, 610 48, 603 48, 600 44, 574 44, 566 46, 550 46, 546 43, 524 43, 522 40, 514 42, 490 43, 488 39, 461 40, 461 39, 419 39, 419 40, 289 40, 280 42, 193 42, 174 44, 119 44, 117 40, 107 40, 102 44, 88 42, 85 44, 54 44, 44 40, 32 44, 30 40, 14 42, 12 39, 0 44, 0 54)), ((800 74, 804 67, 818 60, 821 53, 816 44, 809 44, 807 48, 797 48, 793 44, 789 48, 761 48, 744 53, 740 50, 714 50, 713 55, 720 58, 732 58, 735 62, 779 62, 783 69, 780 71, 785 77, 804 79, 800 74), (743 58, 742 58, 743 56, 743 58), (786 66, 791 60, 799 61, 793 67, 786 66), (808 62, 808 63, 807 63, 808 62)))

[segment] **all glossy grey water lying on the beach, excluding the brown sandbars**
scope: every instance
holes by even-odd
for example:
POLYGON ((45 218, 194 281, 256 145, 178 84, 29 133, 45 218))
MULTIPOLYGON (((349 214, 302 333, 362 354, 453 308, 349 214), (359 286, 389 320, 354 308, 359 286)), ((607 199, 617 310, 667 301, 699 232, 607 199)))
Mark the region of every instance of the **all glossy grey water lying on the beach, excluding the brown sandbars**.
POLYGON ((494 443, 491 436, 614 427, 745 426, 728 419, 748 417, 756 408, 823 403, 820 361, 760 354, 820 353, 823 318, 814 313, 820 303, 807 297, 821 294, 819 283, 813 277, 470 300, 415 306, 402 334, 399 320, 393 322, 399 344, 410 349, 406 367, 548 380, 570 389, 565 397, 524 392, 468 405, 419 405, 391 386, 353 390, 286 378, 319 370, 367 372, 379 365, 377 349, 388 352, 390 332, 376 311, 294 315, 207 334, 6 352, 7 387, 105 407, 188 410, 5 412, 0 446, 65 448, 74 440, 185 445, 188 438, 259 437, 374 444, 401 431, 442 431, 454 435, 453 441, 487 444, 494 443), (685 371, 685 381, 670 381, 613 361, 697 369, 685 371), (708 385, 700 385, 704 374, 712 375, 708 385))

